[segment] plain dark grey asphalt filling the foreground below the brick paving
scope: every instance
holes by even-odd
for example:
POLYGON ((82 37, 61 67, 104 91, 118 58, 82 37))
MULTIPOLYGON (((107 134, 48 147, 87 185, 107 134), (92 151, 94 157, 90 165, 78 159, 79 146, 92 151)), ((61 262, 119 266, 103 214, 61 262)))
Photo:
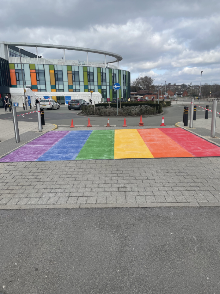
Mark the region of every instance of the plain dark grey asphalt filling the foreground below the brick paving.
POLYGON ((0 210, 0 220, 2 293, 219 293, 219 207, 0 210))

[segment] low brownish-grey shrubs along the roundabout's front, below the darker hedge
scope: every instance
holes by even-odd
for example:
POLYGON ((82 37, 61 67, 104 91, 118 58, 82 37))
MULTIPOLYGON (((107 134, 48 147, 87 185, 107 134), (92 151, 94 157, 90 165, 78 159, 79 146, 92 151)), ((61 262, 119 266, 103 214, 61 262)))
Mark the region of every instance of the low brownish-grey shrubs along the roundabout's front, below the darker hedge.
MULTIPOLYGON (((97 104, 100 105, 100 104, 97 104)), ((94 115, 94 105, 82 106, 82 114, 94 115)), ((149 105, 139 106, 123 106, 118 108, 118 116, 135 116, 135 115, 155 115, 156 107, 149 105)), ((105 108, 104 106, 96 106, 96 115, 116 116, 116 107, 105 108)))

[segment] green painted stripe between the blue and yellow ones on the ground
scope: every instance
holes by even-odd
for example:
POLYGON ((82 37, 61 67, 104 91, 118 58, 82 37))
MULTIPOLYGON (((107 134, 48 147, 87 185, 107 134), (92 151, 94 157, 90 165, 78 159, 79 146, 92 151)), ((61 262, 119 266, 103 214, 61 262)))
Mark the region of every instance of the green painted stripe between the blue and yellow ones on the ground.
POLYGON ((80 150, 79 159, 114 159, 115 130, 96 130, 80 150))

